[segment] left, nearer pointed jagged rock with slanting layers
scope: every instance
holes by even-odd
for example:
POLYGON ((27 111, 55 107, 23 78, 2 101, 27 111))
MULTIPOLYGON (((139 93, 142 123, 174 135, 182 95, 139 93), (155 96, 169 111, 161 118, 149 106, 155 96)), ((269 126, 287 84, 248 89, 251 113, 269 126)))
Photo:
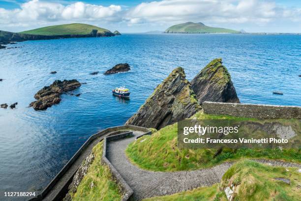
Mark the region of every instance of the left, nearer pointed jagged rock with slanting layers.
POLYGON ((126 124, 160 129, 201 109, 183 68, 174 69, 126 124))

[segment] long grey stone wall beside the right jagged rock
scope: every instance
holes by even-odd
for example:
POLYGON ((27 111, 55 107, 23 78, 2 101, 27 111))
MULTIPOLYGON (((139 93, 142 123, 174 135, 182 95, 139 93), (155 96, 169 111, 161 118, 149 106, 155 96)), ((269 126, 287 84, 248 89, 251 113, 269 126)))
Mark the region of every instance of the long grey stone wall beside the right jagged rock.
POLYGON ((301 107, 263 104, 208 102, 202 104, 206 114, 222 114, 257 119, 301 119, 301 107))

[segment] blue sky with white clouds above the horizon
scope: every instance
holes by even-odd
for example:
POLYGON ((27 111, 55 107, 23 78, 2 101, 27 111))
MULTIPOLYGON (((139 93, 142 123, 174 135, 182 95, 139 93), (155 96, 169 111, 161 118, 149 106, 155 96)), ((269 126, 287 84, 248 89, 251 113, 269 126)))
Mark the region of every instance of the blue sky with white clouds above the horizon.
POLYGON ((202 22, 246 32, 301 33, 301 0, 0 0, 0 30, 86 23, 142 33, 202 22))

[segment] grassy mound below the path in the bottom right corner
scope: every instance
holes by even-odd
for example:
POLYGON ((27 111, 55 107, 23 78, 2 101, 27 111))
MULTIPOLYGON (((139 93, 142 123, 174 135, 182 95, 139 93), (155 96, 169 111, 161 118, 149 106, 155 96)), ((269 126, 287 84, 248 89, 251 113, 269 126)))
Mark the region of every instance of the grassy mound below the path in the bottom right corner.
POLYGON ((227 201, 224 189, 235 187, 233 201, 299 201, 301 173, 243 160, 230 167, 219 184, 143 201, 227 201), (291 184, 274 178, 290 179, 291 184))

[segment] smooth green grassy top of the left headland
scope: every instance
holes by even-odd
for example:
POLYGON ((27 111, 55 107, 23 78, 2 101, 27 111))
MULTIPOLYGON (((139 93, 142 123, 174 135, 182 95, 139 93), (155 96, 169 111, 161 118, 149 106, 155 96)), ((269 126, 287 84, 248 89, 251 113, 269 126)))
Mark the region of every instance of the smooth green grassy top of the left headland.
POLYGON ((87 25, 87 24, 65 24, 65 25, 55 25, 49 27, 42 27, 38 29, 33 29, 29 31, 24 31, 20 33, 34 34, 34 35, 67 35, 67 34, 90 34, 92 30, 97 30, 97 33, 110 32, 109 30, 87 25))

